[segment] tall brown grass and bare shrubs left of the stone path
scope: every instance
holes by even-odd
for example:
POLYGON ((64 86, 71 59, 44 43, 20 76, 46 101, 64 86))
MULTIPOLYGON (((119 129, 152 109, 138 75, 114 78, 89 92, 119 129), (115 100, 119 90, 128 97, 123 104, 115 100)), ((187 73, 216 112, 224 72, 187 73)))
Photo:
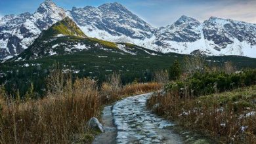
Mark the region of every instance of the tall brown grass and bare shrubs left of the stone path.
POLYGON ((96 83, 89 78, 73 81, 56 69, 49 76, 49 94, 42 99, 13 99, 1 86, 0 143, 72 143, 75 135, 89 132, 87 121, 98 117, 106 103, 161 88, 156 82, 121 86, 116 73, 101 88, 96 83))

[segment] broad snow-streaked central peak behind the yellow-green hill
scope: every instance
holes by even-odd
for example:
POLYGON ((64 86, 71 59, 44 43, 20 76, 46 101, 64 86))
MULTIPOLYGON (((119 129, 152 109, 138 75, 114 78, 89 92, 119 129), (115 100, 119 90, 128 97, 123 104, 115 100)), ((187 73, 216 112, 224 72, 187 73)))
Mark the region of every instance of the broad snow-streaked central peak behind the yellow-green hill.
POLYGON ((121 41, 122 36, 144 40, 152 37, 155 30, 119 3, 108 3, 97 8, 74 7, 71 13, 87 35, 108 41, 121 41))

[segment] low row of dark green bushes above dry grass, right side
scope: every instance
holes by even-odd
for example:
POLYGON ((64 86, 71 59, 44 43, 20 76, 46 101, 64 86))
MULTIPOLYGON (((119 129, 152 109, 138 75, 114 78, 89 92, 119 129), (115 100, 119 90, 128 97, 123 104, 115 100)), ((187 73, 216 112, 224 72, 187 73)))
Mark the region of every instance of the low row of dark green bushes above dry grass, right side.
POLYGON ((184 89, 188 91, 186 96, 202 96, 253 84, 256 84, 255 69, 229 75, 224 72, 194 73, 185 81, 178 80, 166 84, 165 90, 179 90, 181 97, 184 95, 184 89))

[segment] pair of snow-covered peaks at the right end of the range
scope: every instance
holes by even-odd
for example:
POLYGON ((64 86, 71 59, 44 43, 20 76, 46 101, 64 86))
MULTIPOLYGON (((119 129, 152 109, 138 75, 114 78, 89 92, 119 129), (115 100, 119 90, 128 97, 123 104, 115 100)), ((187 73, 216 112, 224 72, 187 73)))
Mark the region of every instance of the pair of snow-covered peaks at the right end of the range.
POLYGON ((171 26, 158 29, 155 35, 150 45, 161 52, 256 58, 256 24, 213 17, 200 24, 182 16, 171 26))

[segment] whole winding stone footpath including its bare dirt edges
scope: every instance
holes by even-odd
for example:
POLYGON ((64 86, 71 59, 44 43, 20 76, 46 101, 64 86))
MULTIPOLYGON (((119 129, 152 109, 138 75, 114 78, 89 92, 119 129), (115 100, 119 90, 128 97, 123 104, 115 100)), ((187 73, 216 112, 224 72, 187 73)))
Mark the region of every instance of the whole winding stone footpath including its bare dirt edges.
POLYGON ((193 132, 177 132, 175 124, 146 109, 146 99, 152 94, 131 96, 105 107, 102 113, 104 133, 98 135, 93 143, 207 143, 193 132))

